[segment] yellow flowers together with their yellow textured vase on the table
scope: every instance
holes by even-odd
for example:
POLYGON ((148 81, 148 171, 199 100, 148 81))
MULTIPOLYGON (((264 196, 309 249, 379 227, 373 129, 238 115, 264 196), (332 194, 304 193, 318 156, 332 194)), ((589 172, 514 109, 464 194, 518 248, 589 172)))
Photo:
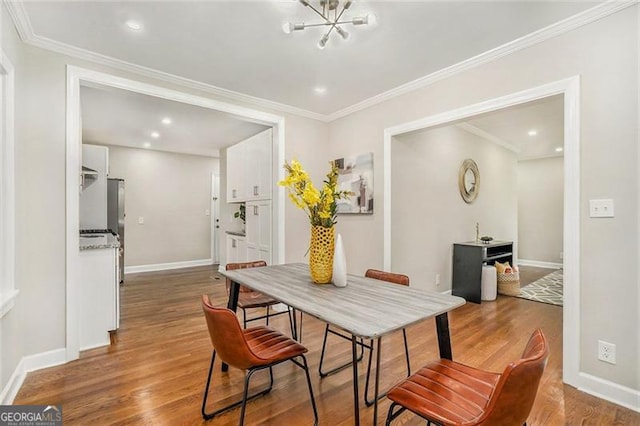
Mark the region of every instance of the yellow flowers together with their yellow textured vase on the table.
POLYGON ((309 269, 311 279, 318 284, 331 282, 337 201, 353 195, 350 191, 338 191, 338 168, 333 162, 330 164, 331 170, 322 189, 313 185, 296 160, 284 164, 287 177, 278 182, 278 185, 287 187, 291 201, 305 211, 311 222, 309 269))

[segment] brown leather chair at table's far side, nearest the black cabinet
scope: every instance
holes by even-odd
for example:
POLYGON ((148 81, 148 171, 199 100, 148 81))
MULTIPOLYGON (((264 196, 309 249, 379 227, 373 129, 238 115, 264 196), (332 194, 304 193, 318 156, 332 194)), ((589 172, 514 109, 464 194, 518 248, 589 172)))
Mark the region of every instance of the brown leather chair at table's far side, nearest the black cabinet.
MULTIPOLYGON (((399 285, 405 285, 408 286, 409 285, 409 277, 403 274, 396 274, 393 272, 385 272, 385 271, 379 271, 377 269, 367 269, 367 272, 365 272, 364 274, 365 277, 367 278, 373 278, 376 280, 380 280, 380 281, 386 281, 386 282, 390 282, 393 284, 399 284, 399 285)), ((322 352, 320 354, 320 363, 318 365, 318 373, 320 374, 320 377, 326 377, 330 374, 333 374, 337 371, 342 370, 345 367, 348 367, 351 365, 352 361, 347 362, 346 364, 342 364, 338 367, 335 367, 329 371, 322 371, 322 363, 324 361, 324 351, 327 345, 327 337, 329 335, 329 333, 334 334, 336 336, 342 337, 346 340, 351 340, 351 336, 347 336, 345 334, 342 334, 338 331, 332 330, 329 327, 329 324, 327 324, 327 326, 324 329, 324 340, 322 341, 322 352)), ((402 335, 404 337, 404 352, 405 352, 405 358, 407 360, 407 376, 411 375, 411 364, 409 361, 409 345, 407 343, 407 332, 406 330, 403 328, 402 329, 402 335)), ((365 404, 367 406, 371 406, 374 403, 374 400, 370 400, 369 399, 369 382, 370 382, 370 377, 371 377, 371 362, 373 359, 373 340, 369 341, 369 344, 365 344, 362 340, 360 340, 360 348, 361 348, 361 352, 360 355, 357 357, 357 360, 360 361, 362 359, 362 356, 364 355, 364 349, 363 348, 368 348, 369 349, 369 362, 367 364, 367 379, 365 381, 365 388, 364 388, 364 401, 365 404)), ((377 374, 377 373, 376 373, 377 374)), ((378 398, 383 397, 385 394, 382 393, 380 395, 378 395, 378 398)))

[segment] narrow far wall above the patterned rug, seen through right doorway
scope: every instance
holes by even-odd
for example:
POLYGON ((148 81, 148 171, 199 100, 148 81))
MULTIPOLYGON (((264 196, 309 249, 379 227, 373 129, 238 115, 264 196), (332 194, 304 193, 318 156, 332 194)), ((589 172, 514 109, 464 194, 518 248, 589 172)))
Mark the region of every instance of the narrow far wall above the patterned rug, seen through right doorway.
POLYGON ((562 263, 564 158, 518 163, 518 258, 562 263))

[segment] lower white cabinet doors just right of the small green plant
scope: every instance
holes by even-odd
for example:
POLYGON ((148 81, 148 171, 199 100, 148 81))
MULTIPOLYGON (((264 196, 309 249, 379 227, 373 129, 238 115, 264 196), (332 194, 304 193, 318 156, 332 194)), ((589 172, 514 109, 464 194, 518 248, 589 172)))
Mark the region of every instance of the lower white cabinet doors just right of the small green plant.
POLYGON ((271 200, 247 202, 246 233, 247 261, 271 264, 271 200))

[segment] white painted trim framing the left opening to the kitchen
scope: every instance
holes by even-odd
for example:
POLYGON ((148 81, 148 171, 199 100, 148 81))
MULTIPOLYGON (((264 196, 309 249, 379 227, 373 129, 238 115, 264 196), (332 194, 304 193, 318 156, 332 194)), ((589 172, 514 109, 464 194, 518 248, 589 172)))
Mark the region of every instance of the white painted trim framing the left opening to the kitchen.
MULTIPOLYGON (((241 118, 244 121, 272 126, 278 158, 284 162, 285 119, 282 116, 266 113, 259 110, 241 107, 215 99, 183 93, 161 86, 155 86, 140 81, 117 77, 111 74, 67 65, 67 161, 66 161, 66 293, 67 293, 67 328, 66 348, 67 360, 77 359, 80 354, 79 330, 78 330, 78 286, 79 286, 79 257, 78 232, 79 232, 79 190, 81 167, 81 125, 80 125, 80 85, 100 84, 116 87, 149 96, 155 96, 171 101, 196 105, 203 108, 226 112, 241 118)), ((282 164, 282 163, 281 163, 282 164)), ((279 168, 281 169, 281 167, 279 168)), ((274 171, 274 176, 276 171, 274 171)), ((279 172, 278 176, 282 176, 279 172)), ((278 199, 275 215, 284 212, 284 188, 277 185, 278 179, 273 180, 272 194, 278 199)), ((274 252, 278 259, 284 259, 284 218, 274 220, 277 228, 274 235, 280 238, 274 244, 274 252)))

